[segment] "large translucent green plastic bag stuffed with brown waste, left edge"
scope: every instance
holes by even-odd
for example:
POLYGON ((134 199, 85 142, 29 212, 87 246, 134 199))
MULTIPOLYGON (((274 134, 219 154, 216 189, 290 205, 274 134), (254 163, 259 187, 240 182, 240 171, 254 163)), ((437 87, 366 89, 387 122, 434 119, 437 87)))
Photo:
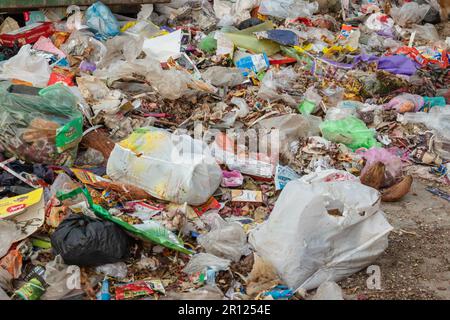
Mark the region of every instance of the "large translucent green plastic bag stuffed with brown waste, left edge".
POLYGON ((0 84, 0 146, 29 163, 71 165, 83 135, 77 98, 63 84, 41 89, 0 84))

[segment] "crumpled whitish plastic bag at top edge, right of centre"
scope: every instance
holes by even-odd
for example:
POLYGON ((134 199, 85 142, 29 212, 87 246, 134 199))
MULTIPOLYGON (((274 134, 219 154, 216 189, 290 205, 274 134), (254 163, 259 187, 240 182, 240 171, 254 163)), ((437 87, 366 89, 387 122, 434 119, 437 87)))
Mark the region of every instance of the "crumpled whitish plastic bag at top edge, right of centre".
POLYGON ((317 2, 303 0, 262 0, 259 6, 259 13, 284 19, 309 17, 318 10, 317 2))

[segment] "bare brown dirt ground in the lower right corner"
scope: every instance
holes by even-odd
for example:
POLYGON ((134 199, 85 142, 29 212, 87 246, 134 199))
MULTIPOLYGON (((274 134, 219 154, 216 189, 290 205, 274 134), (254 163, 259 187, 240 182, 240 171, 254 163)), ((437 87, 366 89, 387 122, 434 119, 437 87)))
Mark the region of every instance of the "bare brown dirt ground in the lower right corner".
POLYGON ((381 290, 367 289, 369 275, 362 270, 339 283, 346 298, 450 299, 450 202, 425 190, 428 185, 415 179, 401 202, 382 205, 394 230, 374 263, 381 290))

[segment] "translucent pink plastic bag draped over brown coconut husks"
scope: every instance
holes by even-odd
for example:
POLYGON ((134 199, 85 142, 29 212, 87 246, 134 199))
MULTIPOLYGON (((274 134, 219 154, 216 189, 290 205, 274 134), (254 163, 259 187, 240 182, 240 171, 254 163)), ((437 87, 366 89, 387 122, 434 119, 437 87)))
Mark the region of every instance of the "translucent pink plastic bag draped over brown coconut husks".
POLYGON ((388 150, 383 148, 371 148, 366 152, 358 152, 364 159, 366 159, 366 165, 361 172, 361 175, 376 162, 381 162, 385 166, 384 184, 382 187, 390 187, 395 184, 398 178, 402 175, 402 161, 401 159, 388 150))

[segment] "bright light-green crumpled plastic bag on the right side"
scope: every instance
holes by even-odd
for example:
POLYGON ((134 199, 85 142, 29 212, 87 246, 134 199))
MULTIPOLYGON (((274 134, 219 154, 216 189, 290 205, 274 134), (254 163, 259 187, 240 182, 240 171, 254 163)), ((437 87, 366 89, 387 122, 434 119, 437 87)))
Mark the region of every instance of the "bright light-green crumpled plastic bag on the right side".
POLYGON ((325 139, 343 143, 353 151, 358 148, 381 147, 374 137, 375 131, 353 116, 341 120, 326 120, 319 128, 325 139))

